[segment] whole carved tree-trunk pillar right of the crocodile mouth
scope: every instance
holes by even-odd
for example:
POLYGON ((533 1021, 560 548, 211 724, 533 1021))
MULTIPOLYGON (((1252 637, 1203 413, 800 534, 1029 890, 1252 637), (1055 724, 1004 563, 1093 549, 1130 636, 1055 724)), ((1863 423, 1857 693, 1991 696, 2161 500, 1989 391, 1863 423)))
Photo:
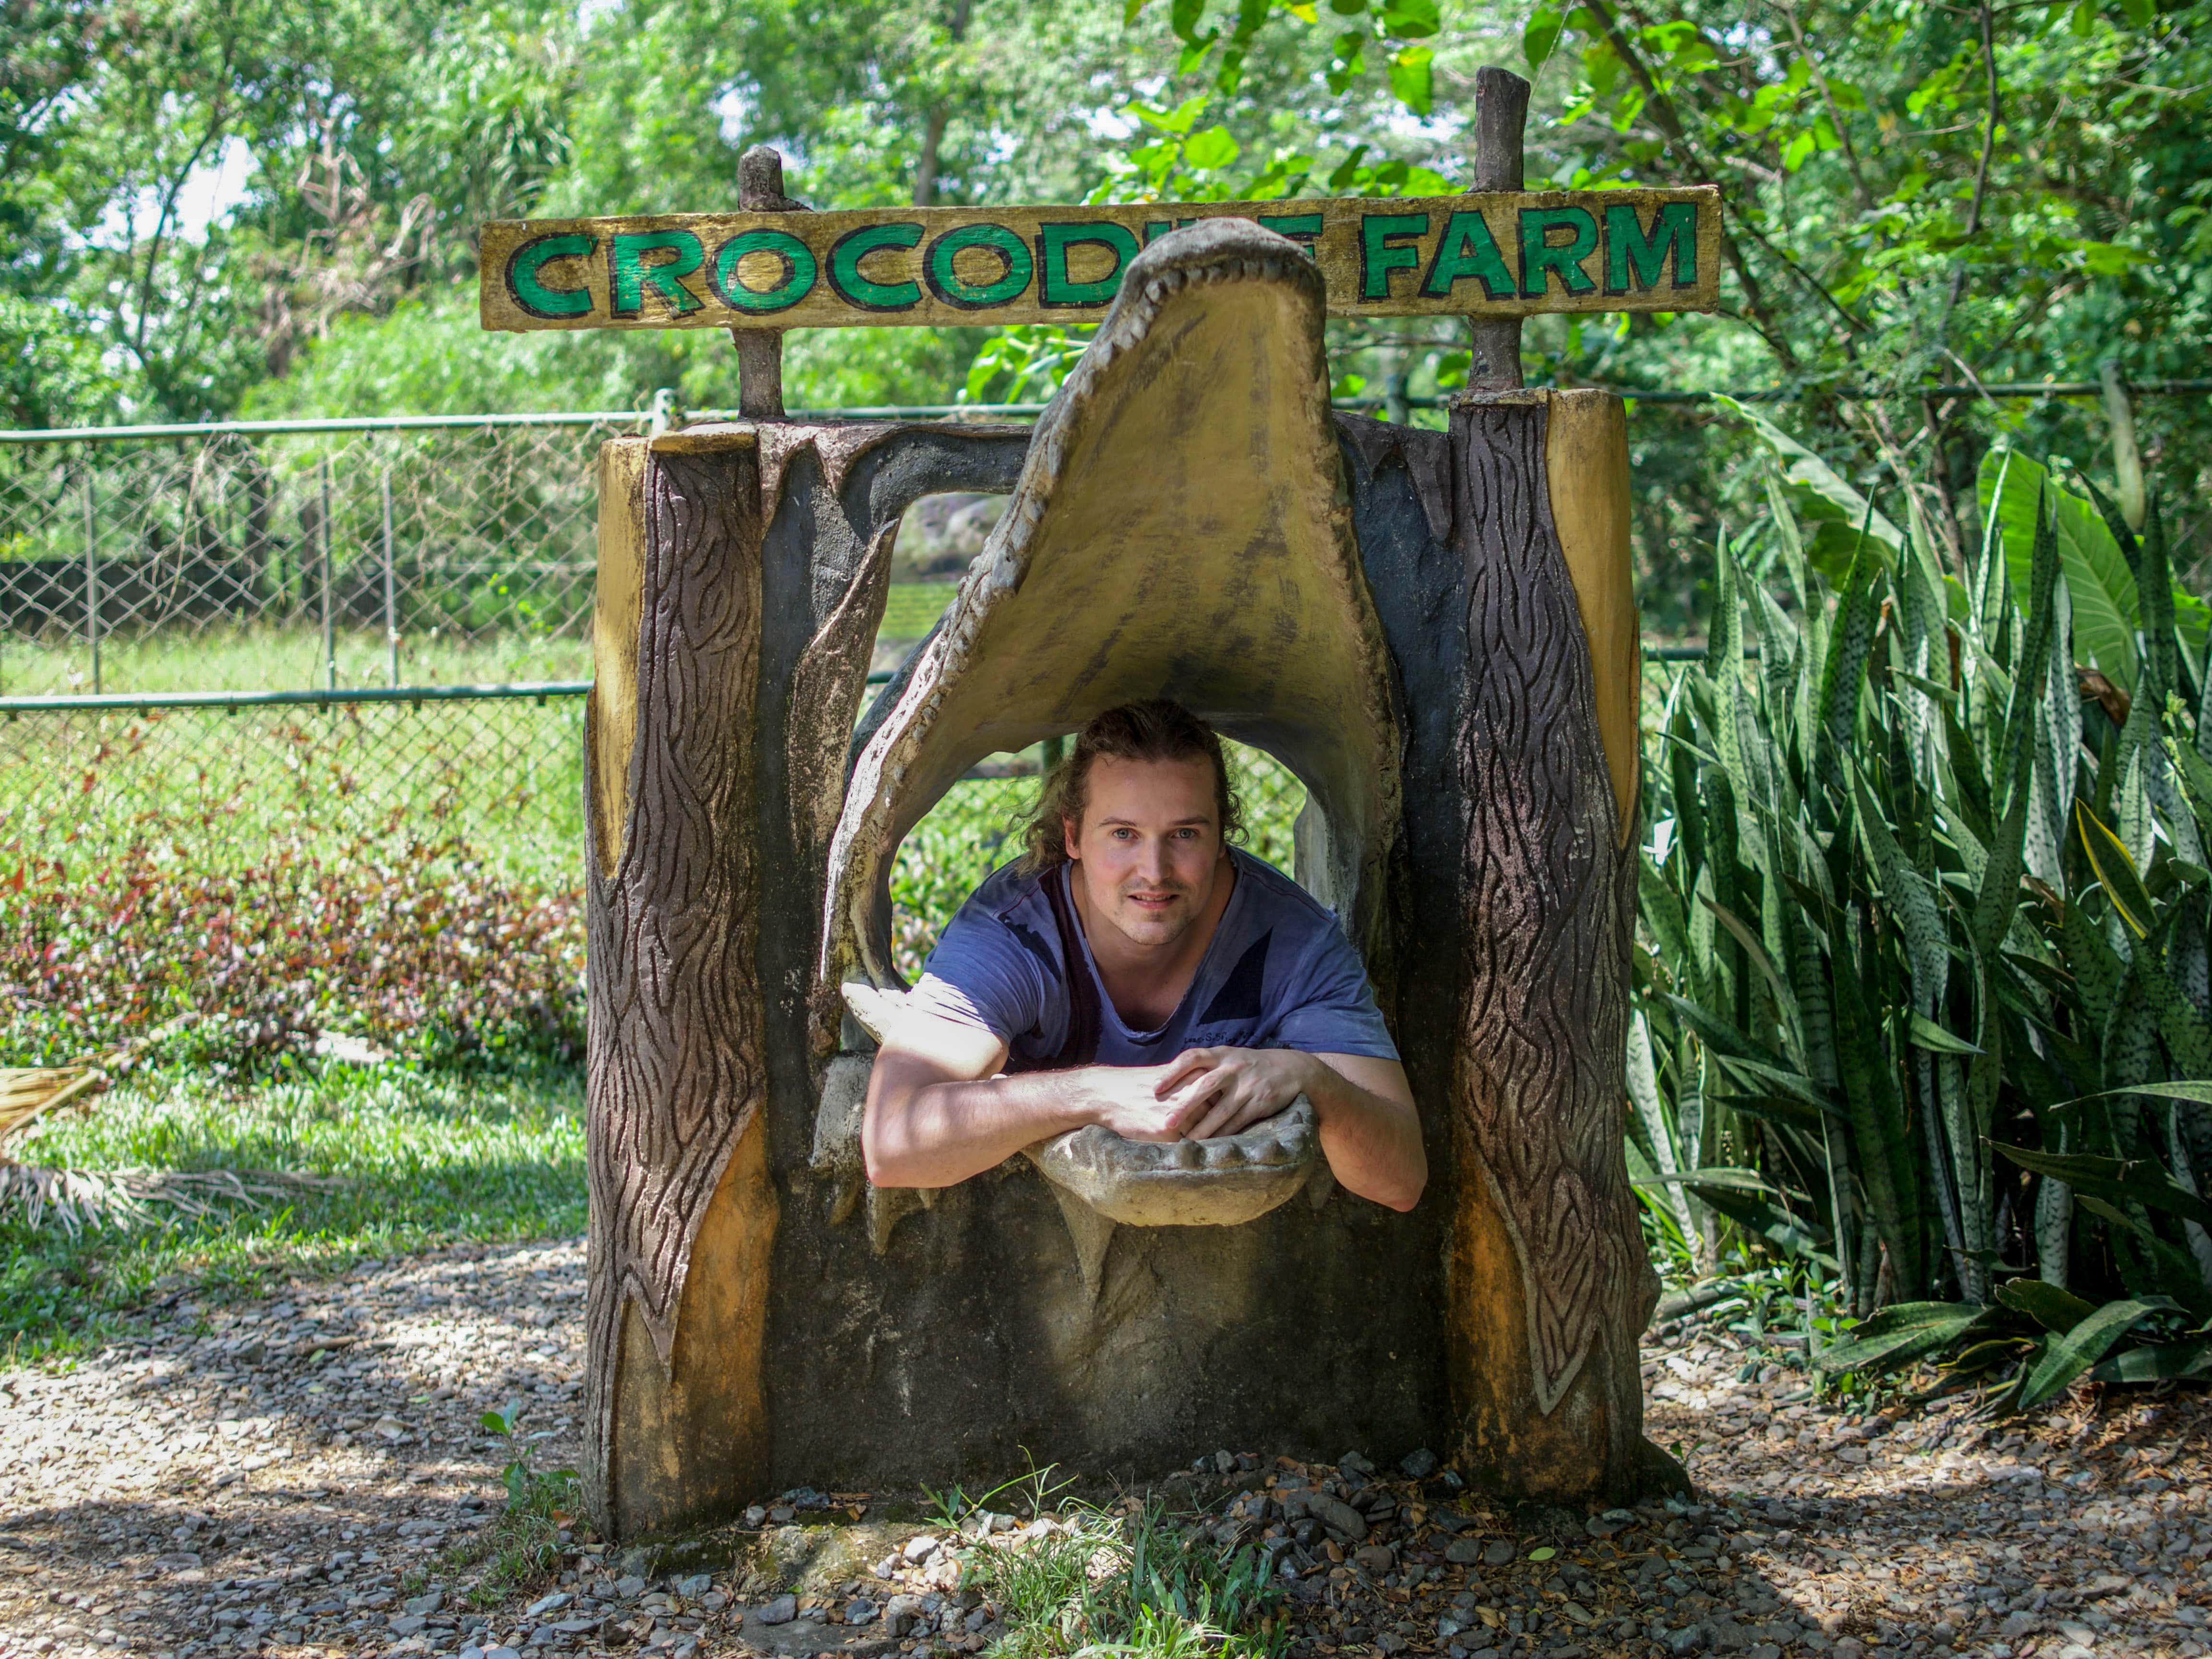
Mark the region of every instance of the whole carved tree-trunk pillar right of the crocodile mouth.
POLYGON ((1637 657, 1619 403, 1475 394, 1449 445, 1467 582, 1460 1451, 1513 1495, 1630 1495, 1679 1471, 1641 1433, 1637 1336, 1659 1285, 1621 1152, 1637 657))

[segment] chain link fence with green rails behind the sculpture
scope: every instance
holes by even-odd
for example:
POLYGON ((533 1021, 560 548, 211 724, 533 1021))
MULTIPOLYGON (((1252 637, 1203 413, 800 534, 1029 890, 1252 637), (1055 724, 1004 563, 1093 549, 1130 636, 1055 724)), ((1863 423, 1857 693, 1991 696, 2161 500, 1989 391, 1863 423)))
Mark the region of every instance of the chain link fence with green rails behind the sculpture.
MULTIPOLYGON (((582 885, 595 458, 646 416, 288 422, 0 442, 0 883, 153 847, 378 869, 467 856, 582 885)), ((995 502, 920 502, 878 679, 995 502)), ((953 785, 894 874, 914 971, 998 863, 1042 757, 953 785)), ((1298 781, 1237 752, 1290 867, 1298 781)))

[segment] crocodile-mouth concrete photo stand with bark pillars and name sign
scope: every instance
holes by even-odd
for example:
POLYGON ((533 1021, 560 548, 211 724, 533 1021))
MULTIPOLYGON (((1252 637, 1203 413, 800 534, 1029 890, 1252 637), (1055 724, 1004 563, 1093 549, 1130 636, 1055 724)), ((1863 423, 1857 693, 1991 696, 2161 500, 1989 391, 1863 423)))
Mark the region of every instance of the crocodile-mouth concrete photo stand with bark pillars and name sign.
POLYGON ((599 473, 586 1478, 608 1533, 1024 1449, 1157 1471, 1433 1444, 1551 1498, 1668 1478, 1621 1159, 1626 425, 1608 394, 1520 389, 1517 319, 1710 305, 1717 199, 1517 197, 1524 100, 1484 71, 1475 210, 1267 204, 1296 237, 1234 204, 945 210, 878 215, 894 232, 854 252, 869 226, 810 228, 772 153, 730 221, 487 228, 491 325, 741 319, 750 418, 615 440, 599 473), (1524 208, 1548 217, 1515 234, 1524 208), (1040 272, 1106 281, 1068 263, 1071 215, 1130 228, 1086 232, 1113 257, 1102 327, 1035 429, 781 416, 776 319, 933 321, 823 307, 973 301, 993 274, 1002 307, 1044 305, 1040 272), (1449 429, 1332 414, 1323 319, 1389 305, 1400 268, 1396 301, 1433 310, 1416 290, 1458 292, 1453 261, 1478 352, 1449 429), (790 303, 743 299, 768 292, 790 303), (953 489, 1009 511, 863 712, 900 513, 953 489), (1294 874, 1363 947, 1429 1137, 1411 1214, 1332 1194, 1303 1108, 1219 1144, 1084 1130, 933 1199, 863 1179, 900 838, 984 754, 1155 695, 1310 790, 1294 874))

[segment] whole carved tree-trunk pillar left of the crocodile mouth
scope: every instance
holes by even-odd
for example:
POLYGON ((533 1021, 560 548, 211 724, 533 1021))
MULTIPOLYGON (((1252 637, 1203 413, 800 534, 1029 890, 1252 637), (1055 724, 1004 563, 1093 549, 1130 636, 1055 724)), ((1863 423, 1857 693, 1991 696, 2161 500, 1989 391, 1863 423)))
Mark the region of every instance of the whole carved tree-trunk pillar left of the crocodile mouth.
POLYGON ((757 456, 606 445, 588 743, 586 1480, 613 1531, 763 1471, 776 1194, 754 858, 757 456))

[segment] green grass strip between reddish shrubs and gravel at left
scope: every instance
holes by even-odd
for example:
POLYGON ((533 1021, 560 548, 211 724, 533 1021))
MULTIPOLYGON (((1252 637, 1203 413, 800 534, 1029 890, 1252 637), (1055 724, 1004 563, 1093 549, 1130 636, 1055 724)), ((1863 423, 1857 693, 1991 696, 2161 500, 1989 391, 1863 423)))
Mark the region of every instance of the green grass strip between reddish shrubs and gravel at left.
POLYGON ((80 1170, 285 1170, 334 1177, 261 1208, 64 1232, 0 1214, 0 1354, 24 1363, 100 1340, 153 1290, 257 1294, 453 1241, 584 1230, 584 1079, 325 1064, 246 1088, 195 1071, 135 1077, 9 1148, 80 1170))

